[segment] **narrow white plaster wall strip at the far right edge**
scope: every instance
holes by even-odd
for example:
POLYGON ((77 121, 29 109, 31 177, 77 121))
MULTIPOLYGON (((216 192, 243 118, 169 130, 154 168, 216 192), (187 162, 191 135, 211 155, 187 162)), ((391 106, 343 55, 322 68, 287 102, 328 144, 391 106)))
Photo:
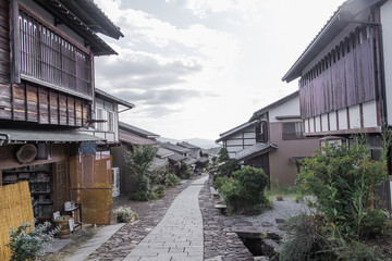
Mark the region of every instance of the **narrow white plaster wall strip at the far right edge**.
POLYGON ((381 7, 388 125, 392 125, 392 1, 381 7))

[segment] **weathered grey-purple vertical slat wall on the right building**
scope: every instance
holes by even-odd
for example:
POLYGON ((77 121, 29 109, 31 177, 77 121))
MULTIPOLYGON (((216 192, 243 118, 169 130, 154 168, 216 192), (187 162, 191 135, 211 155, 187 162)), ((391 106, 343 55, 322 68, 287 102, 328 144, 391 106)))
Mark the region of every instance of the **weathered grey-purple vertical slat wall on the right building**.
POLYGON ((299 80, 303 119, 376 99, 373 30, 357 27, 299 80))

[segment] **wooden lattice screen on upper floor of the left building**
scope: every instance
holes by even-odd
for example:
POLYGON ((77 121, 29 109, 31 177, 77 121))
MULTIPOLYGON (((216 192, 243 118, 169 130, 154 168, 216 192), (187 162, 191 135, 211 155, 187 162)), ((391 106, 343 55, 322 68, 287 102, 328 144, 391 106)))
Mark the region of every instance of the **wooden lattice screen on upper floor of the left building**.
POLYGON ((21 9, 21 75, 47 83, 49 87, 93 97, 91 61, 87 50, 56 27, 21 9))

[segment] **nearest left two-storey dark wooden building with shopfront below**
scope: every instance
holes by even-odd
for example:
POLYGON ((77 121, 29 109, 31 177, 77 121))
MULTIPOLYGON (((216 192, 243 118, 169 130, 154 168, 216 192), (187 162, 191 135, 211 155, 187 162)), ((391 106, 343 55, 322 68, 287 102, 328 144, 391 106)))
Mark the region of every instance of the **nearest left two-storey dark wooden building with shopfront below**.
POLYGON ((38 219, 73 200, 84 222, 110 222, 110 202, 90 199, 108 194, 111 159, 79 152, 107 138, 79 132, 94 123, 94 58, 115 54, 97 33, 123 36, 89 0, 0 1, 0 185, 29 181, 38 219))

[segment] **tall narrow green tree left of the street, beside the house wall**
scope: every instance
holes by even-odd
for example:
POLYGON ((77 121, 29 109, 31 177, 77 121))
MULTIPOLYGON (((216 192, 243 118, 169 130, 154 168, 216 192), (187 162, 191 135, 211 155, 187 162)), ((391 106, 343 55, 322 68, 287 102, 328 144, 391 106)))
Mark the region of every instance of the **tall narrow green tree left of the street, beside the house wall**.
POLYGON ((131 199, 147 201, 151 198, 151 173, 148 171, 158 148, 152 146, 136 146, 125 156, 125 166, 131 170, 131 178, 136 184, 136 190, 131 194, 131 199))

